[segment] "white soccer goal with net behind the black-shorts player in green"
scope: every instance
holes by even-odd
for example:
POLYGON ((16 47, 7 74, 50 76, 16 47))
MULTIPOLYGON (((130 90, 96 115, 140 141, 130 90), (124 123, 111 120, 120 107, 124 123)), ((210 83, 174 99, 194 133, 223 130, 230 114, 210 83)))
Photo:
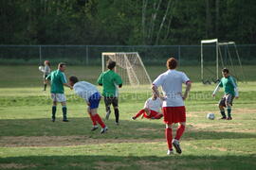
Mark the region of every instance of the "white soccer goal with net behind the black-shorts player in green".
POLYGON ((116 61, 115 72, 121 76, 123 84, 152 84, 151 78, 137 52, 105 52, 101 54, 102 72, 106 70, 107 61, 116 61))

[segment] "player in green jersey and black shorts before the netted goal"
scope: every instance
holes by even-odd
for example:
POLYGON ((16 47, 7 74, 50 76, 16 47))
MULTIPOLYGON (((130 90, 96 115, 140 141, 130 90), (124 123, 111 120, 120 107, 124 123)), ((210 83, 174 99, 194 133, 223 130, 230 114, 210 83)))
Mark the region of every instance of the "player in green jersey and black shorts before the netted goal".
POLYGON ((119 125, 119 99, 118 99, 118 87, 121 88, 122 80, 121 77, 114 72, 116 62, 110 60, 108 62, 108 71, 101 73, 98 78, 98 84, 103 86, 104 103, 106 108, 106 120, 110 115, 110 106, 113 105, 115 110, 116 125, 119 125), (117 87, 118 86, 118 87, 117 87))

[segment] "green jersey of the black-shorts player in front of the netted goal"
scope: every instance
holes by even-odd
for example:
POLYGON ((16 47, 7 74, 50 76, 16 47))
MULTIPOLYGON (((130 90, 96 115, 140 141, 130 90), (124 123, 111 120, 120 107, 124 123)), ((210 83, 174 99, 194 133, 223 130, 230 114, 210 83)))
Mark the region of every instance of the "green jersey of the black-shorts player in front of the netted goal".
POLYGON ((101 73, 98 78, 98 84, 103 86, 103 96, 118 96, 117 85, 122 84, 121 77, 113 70, 101 73))

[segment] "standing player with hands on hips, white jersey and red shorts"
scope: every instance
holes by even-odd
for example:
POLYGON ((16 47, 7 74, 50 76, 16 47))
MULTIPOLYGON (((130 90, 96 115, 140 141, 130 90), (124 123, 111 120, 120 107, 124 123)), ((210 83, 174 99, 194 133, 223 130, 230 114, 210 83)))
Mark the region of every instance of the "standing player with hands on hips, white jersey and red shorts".
POLYGON ((183 72, 176 71, 177 60, 170 58, 167 60, 166 66, 168 71, 158 76, 153 82, 152 89, 157 97, 163 100, 164 123, 166 124, 165 136, 168 144, 167 154, 174 153, 173 145, 177 153, 181 154, 179 140, 186 126, 186 109, 184 100, 188 97, 191 90, 192 82, 183 72), (186 84, 186 91, 182 94, 182 83, 186 84), (164 96, 159 95, 158 87, 162 87, 164 96), (173 124, 179 124, 173 139, 173 124))

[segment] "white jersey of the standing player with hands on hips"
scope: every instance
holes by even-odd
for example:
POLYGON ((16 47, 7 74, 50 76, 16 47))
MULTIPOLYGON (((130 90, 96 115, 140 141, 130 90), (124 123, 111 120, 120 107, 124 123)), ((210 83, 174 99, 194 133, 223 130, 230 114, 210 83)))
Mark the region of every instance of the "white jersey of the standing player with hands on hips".
POLYGON ((190 81, 188 76, 176 70, 168 70, 155 79, 153 84, 157 87, 162 87, 166 98, 163 101, 163 107, 184 106, 182 83, 186 84, 188 81, 190 81))

